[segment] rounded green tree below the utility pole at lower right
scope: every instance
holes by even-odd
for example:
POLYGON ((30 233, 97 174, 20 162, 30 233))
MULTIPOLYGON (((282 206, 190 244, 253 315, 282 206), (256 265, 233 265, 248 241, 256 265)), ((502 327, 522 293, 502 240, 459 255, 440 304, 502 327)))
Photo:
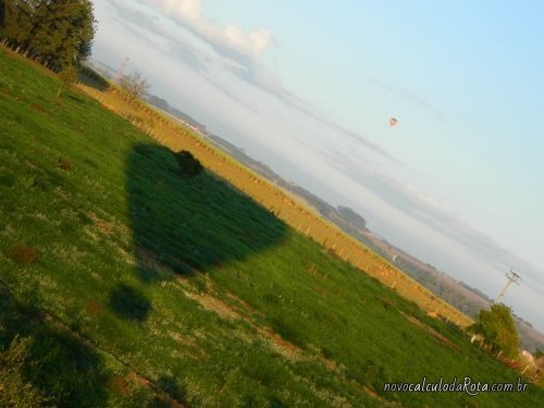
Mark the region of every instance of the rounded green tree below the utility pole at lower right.
POLYGON ((503 304, 493 305, 490 310, 480 310, 470 332, 481 334, 493 351, 502 350, 508 357, 516 357, 519 347, 518 332, 511 309, 503 304))

